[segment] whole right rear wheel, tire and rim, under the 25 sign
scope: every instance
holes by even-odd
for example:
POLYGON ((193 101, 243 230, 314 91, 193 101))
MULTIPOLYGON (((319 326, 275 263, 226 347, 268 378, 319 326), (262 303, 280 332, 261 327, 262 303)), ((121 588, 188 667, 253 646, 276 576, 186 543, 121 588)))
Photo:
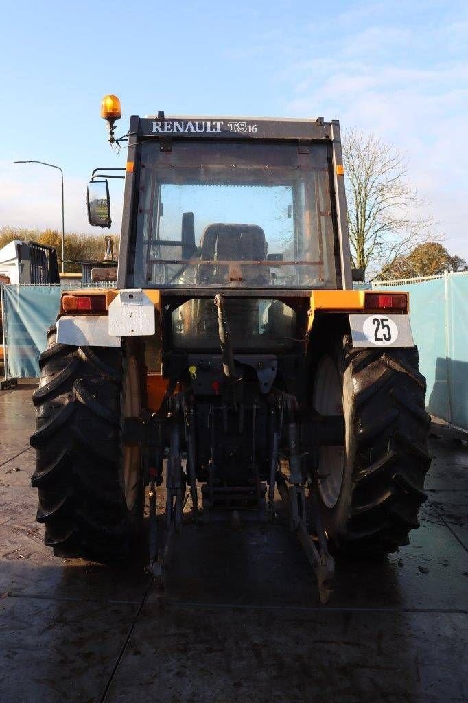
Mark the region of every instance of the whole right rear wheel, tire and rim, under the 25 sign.
POLYGON ((317 360, 313 405, 344 415, 344 446, 320 448, 318 498, 335 550, 389 553, 408 544, 426 500, 430 418, 415 347, 353 349, 349 335, 317 360))

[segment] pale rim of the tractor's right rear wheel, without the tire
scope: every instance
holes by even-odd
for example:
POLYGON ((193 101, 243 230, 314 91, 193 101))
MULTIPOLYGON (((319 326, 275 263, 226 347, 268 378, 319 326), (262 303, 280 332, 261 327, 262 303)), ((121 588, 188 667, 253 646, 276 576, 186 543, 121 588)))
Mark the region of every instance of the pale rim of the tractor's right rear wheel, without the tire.
MULTIPOLYGON (((343 415, 342 382, 331 356, 320 359, 313 387, 313 406, 320 415, 343 415)), ((334 508, 337 504, 342 489, 345 458, 344 445, 320 446, 318 492, 327 508, 334 508)))

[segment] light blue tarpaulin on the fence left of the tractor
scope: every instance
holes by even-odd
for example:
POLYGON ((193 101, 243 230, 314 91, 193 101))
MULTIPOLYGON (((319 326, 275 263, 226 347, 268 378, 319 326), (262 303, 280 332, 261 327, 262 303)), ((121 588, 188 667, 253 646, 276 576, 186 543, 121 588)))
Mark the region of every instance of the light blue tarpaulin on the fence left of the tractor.
POLYGON ((39 354, 47 346, 47 329, 56 321, 60 285, 3 286, 4 342, 11 378, 39 376, 39 354))

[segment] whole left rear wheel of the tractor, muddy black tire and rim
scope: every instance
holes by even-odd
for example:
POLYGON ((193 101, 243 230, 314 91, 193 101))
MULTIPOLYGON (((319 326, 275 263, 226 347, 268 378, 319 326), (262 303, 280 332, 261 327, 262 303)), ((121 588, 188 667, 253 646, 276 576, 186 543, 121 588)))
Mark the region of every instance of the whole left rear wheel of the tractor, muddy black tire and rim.
POLYGON ((110 562, 129 557, 143 530, 140 450, 122 446, 124 416, 144 402, 143 349, 69 347, 55 325, 39 361, 32 486, 54 554, 110 562))

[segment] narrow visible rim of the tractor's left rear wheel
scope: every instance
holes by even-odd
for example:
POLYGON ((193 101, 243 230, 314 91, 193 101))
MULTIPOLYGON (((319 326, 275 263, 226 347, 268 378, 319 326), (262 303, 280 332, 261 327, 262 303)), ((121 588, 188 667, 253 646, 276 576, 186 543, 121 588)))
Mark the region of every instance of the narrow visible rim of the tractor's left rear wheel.
MULTIPOLYGON (((124 376, 124 417, 136 418, 141 410, 140 375, 134 356, 126 364, 124 376)), ((126 507, 133 510, 138 496, 141 456, 138 446, 124 447, 124 491, 126 507)))

